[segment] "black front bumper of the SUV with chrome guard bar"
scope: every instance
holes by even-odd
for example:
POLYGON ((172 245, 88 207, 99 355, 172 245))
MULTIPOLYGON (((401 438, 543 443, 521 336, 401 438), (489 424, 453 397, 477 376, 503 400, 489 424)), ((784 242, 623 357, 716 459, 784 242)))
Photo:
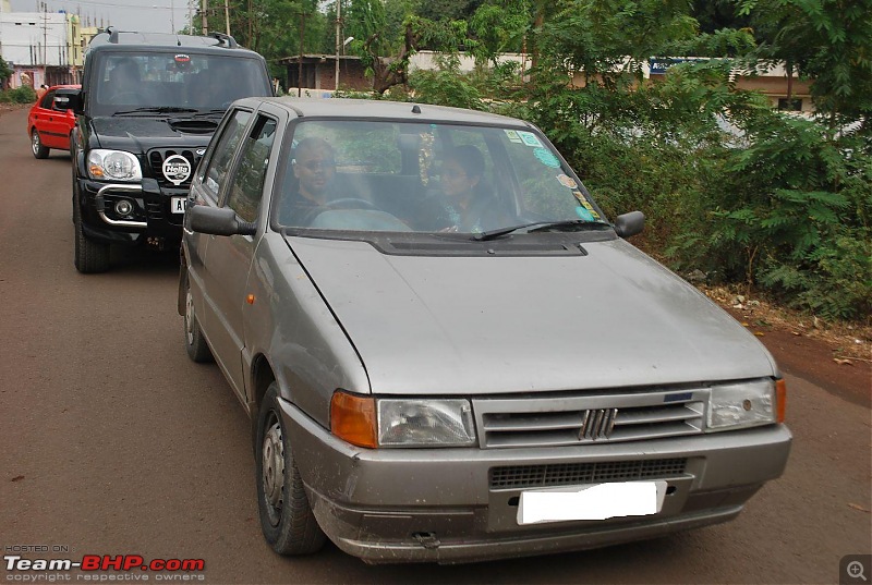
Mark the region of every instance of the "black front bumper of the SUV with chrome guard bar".
POLYGON ((149 243, 178 245, 184 214, 173 212, 173 197, 186 197, 186 188, 161 188, 154 179, 137 183, 101 183, 78 179, 82 228, 89 239, 107 244, 149 243), (134 203, 131 217, 119 217, 113 206, 119 198, 134 203))

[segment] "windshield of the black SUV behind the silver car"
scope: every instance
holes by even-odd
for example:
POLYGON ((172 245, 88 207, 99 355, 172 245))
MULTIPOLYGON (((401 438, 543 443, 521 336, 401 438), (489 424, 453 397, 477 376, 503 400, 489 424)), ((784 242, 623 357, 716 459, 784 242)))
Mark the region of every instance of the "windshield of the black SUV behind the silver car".
POLYGON ((262 63, 241 56, 124 51, 100 56, 95 68, 95 115, 223 112, 234 99, 271 95, 262 63))

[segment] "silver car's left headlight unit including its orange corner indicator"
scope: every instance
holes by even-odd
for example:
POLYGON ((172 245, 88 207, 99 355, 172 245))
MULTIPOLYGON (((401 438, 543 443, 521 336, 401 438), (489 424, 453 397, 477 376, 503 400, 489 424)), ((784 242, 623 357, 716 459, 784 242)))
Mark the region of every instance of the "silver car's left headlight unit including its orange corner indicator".
POLYGON ((335 392, 330 430, 371 449, 475 444, 472 406, 462 399, 374 399, 335 392))

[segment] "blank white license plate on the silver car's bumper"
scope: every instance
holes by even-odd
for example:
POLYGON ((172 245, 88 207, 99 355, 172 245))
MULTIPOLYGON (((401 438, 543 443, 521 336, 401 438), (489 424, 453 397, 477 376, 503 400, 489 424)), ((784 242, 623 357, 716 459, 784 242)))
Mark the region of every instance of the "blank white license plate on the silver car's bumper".
POLYGON ((645 516, 663 509, 666 482, 619 482, 522 491, 518 524, 645 516))

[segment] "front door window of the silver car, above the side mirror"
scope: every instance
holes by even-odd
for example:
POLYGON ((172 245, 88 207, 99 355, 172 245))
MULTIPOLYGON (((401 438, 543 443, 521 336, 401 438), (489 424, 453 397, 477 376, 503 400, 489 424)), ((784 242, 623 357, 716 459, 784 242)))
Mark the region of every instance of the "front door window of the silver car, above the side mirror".
POLYGON ((245 137, 240 160, 230 183, 227 207, 245 221, 257 219, 257 209, 264 194, 269 153, 276 138, 276 121, 259 117, 245 137))

